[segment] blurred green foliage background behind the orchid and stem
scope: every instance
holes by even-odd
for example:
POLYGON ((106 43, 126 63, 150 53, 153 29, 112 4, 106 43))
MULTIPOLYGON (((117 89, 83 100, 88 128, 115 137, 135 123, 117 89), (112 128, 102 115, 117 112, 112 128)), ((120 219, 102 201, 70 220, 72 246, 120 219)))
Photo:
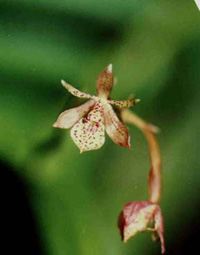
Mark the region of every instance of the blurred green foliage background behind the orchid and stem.
POLYGON ((106 139, 80 155, 68 131, 52 128, 82 103, 60 80, 95 93, 109 63, 112 98, 136 94, 133 110, 161 128, 167 250, 200 224, 199 27, 194 1, 0 1, 1 160, 27 183, 44 254, 160 251, 148 233, 124 245, 116 227, 125 203, 148 196, 142 134, 129 127, 131 151, 106 139))

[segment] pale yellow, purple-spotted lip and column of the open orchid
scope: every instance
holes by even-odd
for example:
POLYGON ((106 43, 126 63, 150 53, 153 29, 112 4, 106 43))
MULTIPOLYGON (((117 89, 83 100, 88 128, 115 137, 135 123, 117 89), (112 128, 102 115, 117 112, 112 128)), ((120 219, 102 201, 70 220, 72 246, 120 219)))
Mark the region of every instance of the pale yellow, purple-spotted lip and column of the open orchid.
POLYGON ((101 148, 105 142, 102 106, 96 103, 88 116, 73 126, 70 134, 80 152, 101 148))

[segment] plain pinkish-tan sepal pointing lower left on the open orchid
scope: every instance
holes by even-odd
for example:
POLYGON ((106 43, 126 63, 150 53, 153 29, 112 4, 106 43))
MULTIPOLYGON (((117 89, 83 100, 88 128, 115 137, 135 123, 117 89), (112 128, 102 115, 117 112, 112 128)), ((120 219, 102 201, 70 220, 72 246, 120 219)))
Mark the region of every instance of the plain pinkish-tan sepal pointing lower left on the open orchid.
POLYGON ((89 100, 85 104, 82 104, 76 108, 62 112, 57 121, 53 124, 53 127, 64 129, 71 128, 77 121, 80 120, 80 118, 88 113, 94 104, 95 102, 93 100, 89 100))

